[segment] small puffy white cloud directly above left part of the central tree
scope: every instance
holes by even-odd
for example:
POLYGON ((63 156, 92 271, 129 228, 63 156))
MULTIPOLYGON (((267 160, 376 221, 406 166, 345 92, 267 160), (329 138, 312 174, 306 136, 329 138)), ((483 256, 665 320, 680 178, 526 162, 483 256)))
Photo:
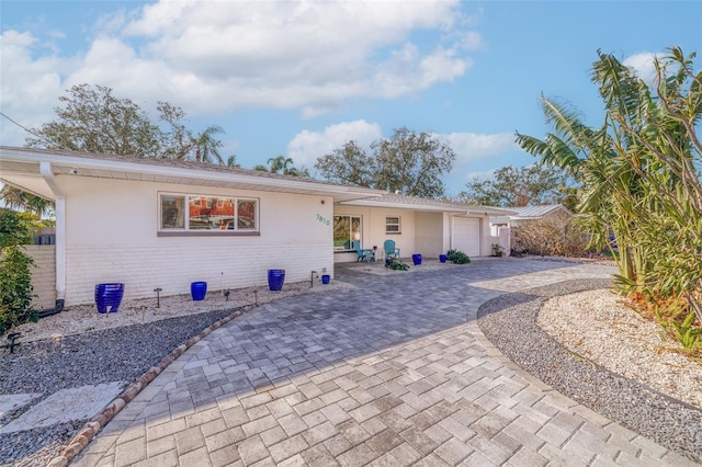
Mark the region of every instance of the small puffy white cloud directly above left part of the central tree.
POLYGON ((317 158, 331 153, 350 140, 356 141, 367 150, 371 143, 382 136, 380 125, 362 119, 329 125, 324 132, 306 129, 295 135, 287 144, 287 157, 295 161, 295 166, 312 169, 317 158))

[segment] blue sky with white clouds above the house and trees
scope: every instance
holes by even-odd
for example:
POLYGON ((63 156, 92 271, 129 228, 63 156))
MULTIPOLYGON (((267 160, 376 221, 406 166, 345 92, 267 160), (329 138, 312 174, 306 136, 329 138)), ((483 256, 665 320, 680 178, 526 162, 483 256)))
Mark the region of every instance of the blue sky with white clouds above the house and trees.
MULTIPOLYGON (((543 92, 599 125, 597 50, 638 70, 680 46, 702 53, 699 1, 7 1, 0 3, 0 109, 27 127, 55 118, 73 84, 111 87, 152 113, 181 106, 245 168, 317 157, 406 126, 457 155, 473 176, 534 162, 516 130, 543 136, 543 92)), ((695 66, 699 69, 699 66, 695 66)), ((0 143, 24 132, 0 119, 0 143)))

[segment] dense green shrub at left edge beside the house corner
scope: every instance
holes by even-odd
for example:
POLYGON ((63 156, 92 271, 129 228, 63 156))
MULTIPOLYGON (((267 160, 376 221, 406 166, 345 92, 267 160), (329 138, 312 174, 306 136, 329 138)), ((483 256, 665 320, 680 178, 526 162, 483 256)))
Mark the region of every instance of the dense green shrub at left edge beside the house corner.
POLYGON ((34 261, 22 251, 32 239, 33 220, 29 214, 0 209, 0 334, 37 319, 30 306, 34 261))

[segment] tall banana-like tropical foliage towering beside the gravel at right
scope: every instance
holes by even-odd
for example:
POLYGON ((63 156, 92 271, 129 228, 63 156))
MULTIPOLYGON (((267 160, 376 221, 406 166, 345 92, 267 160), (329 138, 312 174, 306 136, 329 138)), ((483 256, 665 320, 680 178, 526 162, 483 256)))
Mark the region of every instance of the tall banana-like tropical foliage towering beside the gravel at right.
POLYGON ((599 244, 614 252, 625 292, 652 303, 682 298, 702 321, 702 72, 677 47, 655 60, 649 86, 612 55, 598 50, 592 81, 605 117, 590 128, 566 105, 542 96, 554 132, 544 139, 518 133, 542 162, 568 170, 582 184, 579 210, 599 244))

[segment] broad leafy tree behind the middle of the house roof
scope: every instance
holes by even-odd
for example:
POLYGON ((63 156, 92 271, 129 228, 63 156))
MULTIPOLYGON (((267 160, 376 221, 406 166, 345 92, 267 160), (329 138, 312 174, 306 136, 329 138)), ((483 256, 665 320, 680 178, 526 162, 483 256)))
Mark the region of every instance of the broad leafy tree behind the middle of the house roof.
POLYGON ((410 196, 440 198, 441 175, 450 172, 455 152, 429 133, 395 129, 390 139, 371 144, 372 156, 354 141, 317 160, 315 168, 329 181, 354 183, 410 196))

